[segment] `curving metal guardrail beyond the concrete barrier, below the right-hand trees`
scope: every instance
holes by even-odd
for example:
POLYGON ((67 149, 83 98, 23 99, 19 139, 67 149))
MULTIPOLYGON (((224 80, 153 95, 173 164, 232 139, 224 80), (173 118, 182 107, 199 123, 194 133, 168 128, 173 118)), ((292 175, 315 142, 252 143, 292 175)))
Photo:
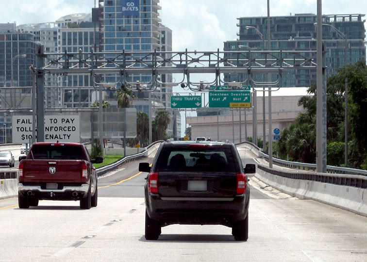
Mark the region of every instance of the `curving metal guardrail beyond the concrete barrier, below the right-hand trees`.
MULTIPOLYGON (((255 146, 254 144, 252 144, 250 142, 247 142, 247 141, 243 142, 241 144, 250 145, 251 147, 253 147, 255 149, 255 151, 257 152, 259 157, 265 158, 267 160, 269 159, 269 156, 267 154, 265 154, 264 152, 262 152, 261 149, 259 147, 255 146)), ((241 145, 241 144, 237 144, 237 145, 241 145)), ((274 158, 274 157, 273 157, 273 164, 278 164, 278 165, 291 167, 291 168, 302 169, 302 170, 311 170, 311 171, 316 170, 316 164, 291 162, 291 161, 286 161, 286 160, 282 160, 282 159, 278 159, 278 158, 274 158)), ((327 165, 326 166, 326 172, 331 173, 331 174, 349 174, 349 175, 367 176, 367 170, 341 167, 341 166, 333 166, 333 165, 327 165)))

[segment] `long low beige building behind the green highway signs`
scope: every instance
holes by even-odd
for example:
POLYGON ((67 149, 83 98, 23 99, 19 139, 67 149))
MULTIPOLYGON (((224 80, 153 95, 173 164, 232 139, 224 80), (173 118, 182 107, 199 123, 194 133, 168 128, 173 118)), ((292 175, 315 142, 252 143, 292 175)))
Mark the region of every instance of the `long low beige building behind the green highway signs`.
MULTIPOLYGON (((300 112, 304 112, 298 106, 298 100, 302 96, 272 96, 272 130, 279 128, 282 131, 292 123, 300 112)), ((208 109, 213 111, 213 109, 208 109)), ((257 97, 257 137, 263 139, 263 98, 257 97)), ((191 136, 195 139, 198 136, 205 136, 212 140, 229 140, 239 143, 245 141, 246 137, 252 137, 253 118, 252 109, 226 109, 225 115, 209 115, 187 117, 186 123, 191 126, 191 136)), ((268 97, 265 97, 265 125, 266 141, 268 141, 269 111, 268 97)), ((256 121, 255 121, 256 123, 256 121)))

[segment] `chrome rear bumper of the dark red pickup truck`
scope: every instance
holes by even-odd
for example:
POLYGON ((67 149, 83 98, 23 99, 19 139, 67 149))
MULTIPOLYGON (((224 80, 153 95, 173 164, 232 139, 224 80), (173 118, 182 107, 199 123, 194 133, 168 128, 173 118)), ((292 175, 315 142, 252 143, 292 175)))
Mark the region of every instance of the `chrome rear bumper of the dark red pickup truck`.
POLYGON ((18 193, 21 196, 33 196, 37 199, 74 200, 85 197, 89 191, 89 184, 81 186, 64 186, 62 189, 43 189, 36 185, 18 183, 18 193))

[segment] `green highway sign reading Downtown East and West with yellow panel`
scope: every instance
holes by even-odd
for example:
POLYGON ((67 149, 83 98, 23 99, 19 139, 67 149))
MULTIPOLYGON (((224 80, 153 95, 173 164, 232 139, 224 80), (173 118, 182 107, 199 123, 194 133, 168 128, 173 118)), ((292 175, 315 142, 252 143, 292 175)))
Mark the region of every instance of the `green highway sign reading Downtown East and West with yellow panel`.
POLYGON ((250 108, 250 91, 210 91, 209 107, 250 108))

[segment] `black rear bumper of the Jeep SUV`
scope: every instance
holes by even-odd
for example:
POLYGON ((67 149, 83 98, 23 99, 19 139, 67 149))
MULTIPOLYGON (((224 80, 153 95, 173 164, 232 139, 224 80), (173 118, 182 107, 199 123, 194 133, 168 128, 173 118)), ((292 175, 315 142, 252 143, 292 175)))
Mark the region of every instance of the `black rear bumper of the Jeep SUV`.
POLYGON ((224 225, 231 227, 246 218, 250 194, 235 197, 160 197, 146 192, 151 219, 161 226, 171 224, 224 225))

